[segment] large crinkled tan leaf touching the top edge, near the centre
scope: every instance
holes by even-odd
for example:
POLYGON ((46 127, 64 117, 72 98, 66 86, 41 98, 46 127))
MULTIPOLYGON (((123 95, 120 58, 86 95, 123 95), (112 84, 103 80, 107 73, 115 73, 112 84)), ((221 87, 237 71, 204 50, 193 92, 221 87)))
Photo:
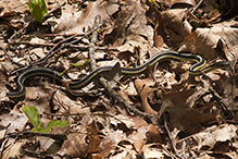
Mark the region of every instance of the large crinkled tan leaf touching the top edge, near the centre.
POLYGON ((127 0, 121 7, 121 12, 115 19, 114 28, 105 36, 105 40, 114 46, 121 46, 125 41, 135 39, 137 41, 147 37, 149 44, 153 44, 153 29, 147 24, 147 7, 140 1, 127 0))

